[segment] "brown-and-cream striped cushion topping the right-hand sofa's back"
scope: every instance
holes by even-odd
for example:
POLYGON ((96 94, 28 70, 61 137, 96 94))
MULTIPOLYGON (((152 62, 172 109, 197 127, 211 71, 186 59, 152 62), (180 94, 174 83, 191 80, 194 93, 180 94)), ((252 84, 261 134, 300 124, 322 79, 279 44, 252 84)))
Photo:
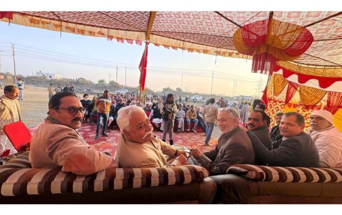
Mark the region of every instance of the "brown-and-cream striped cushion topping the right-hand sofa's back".
POLYGON ((342 168, 279 167, 235 164, 227 173, 264 182, 342 182, 342 168))

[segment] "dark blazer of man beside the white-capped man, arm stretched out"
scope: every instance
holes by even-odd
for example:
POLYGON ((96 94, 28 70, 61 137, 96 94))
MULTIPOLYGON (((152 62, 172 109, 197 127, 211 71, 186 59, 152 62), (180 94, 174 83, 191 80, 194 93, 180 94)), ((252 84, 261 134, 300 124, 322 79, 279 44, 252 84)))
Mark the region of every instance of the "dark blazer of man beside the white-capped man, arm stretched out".
POLYGON ((320 167, 319 155, 314 141, 309 134, 304 132, 287 138, 278 140, 277 144, 273 144, 273 150, 268 150, 255 134, 248 131, 256 160, 261 165, 269 166, 300 166, 300 167, 320 167))

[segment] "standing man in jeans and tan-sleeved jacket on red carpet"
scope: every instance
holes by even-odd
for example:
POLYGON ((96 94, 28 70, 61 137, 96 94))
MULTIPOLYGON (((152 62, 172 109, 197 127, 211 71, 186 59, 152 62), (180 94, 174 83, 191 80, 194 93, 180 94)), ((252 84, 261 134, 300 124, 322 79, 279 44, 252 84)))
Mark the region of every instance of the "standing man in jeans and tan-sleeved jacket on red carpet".
POLYGON ((97 107, 97 125, 96 125, 96 135, 95 139, 99 138, 99 131, 101 126, 101 120, 103 120, 102 136, 108 136, 106 134, 107 119, 109 116, 109 111, 112 106, 112 99, 109 96, 109 91, 105 90, 102 96, 96 99, 95 106, 97 107))

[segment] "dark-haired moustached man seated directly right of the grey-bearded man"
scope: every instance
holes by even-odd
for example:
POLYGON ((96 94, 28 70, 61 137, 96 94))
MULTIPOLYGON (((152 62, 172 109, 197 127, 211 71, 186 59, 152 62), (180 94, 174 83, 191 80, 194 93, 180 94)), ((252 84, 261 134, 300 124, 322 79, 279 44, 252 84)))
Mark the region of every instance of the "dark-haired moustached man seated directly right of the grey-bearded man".
POLYGON ((256 134, 268 150, 272 149, 272 140, 268 127, 266 126, 266 113, 262 110, 252 110, 248 115, 248 129, 256 134))

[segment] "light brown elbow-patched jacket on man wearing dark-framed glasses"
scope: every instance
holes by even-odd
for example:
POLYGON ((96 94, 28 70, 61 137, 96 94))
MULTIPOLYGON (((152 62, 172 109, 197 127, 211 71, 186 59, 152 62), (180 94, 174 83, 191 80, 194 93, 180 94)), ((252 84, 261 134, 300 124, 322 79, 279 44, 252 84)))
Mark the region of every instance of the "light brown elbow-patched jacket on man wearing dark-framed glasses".
POLYGON ((62 168, 77 175, 117 167, 113 157, 91 148, 74 129, 48 119, 32 134, 28 159, 33 168, 62 168))

